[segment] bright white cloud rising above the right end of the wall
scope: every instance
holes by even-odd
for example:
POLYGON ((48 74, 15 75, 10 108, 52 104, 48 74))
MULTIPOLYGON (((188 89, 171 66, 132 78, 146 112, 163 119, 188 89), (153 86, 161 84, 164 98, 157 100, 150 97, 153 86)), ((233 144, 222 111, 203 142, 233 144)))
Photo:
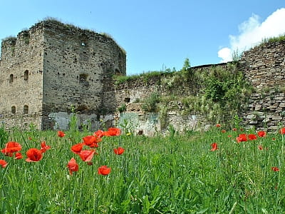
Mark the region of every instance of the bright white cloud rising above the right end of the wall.
POLYGON ((229 35, 230 47, 218 51, 221 62, 231 61, 235 51, 246 51, 259 44, 262 39, 285 34, 285 8, 274 11, 262 23, 259 19, 259 16, 252 14, 247 21, 239 25, 239 35, 229 35))

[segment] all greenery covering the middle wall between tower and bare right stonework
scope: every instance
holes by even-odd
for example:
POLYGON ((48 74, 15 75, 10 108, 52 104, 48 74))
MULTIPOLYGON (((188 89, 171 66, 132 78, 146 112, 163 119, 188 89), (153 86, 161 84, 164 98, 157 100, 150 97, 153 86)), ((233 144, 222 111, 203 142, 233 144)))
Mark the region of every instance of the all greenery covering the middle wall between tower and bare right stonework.
POLYGON ((167 95, 157 90, 142 99, 144 111, 158 112, 164 126, 167 126, 167 111, 178 110, 182 115, 198 114, 212 123, 231 121, 246 103, 252 92, 251 86, 239 71, 238 63, 225 66, 212 66, 205 71, 195 71, 183 66, 181 71, 168 73, 161 78, 162 88, 167 95), (186 87, 191 94, 182 93, 186 87), (195 91, 196 90, 196 91, 195 91))

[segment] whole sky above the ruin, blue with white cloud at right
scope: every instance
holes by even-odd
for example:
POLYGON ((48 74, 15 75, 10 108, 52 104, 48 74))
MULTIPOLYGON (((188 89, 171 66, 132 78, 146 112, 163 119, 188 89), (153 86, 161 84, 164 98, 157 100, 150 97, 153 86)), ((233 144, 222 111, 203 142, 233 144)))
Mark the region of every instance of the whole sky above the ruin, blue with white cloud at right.
POLYGON ((110 34, 127 52, 127 74, 229 61, 285 34, 284 0, 0 0, 0 39, 46 17, 110 34))

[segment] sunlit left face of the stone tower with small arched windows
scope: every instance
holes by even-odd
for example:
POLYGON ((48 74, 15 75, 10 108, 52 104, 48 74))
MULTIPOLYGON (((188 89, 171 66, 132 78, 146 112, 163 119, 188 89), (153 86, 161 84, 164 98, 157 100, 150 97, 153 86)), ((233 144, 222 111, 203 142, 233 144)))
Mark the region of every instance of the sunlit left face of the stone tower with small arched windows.
POLYGON ((2 41, 0 114, 7 126, 41 127, 42 83, 43 32, 32 27, 2 41))

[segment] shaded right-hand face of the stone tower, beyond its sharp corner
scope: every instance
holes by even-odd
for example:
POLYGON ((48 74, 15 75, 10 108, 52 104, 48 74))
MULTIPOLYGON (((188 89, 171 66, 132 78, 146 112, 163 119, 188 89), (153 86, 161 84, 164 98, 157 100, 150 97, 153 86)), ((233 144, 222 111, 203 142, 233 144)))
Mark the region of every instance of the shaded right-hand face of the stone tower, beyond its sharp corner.
MULTIPOLYGON (((51 113, 71 113, 98 120, 105 105, 105 82, 125 75, 125 54, 113 39, 58 22, 43 22, 43 126, 53 127, 51 113)), ((83 122, 83 121, 82 121, 83 122)))

